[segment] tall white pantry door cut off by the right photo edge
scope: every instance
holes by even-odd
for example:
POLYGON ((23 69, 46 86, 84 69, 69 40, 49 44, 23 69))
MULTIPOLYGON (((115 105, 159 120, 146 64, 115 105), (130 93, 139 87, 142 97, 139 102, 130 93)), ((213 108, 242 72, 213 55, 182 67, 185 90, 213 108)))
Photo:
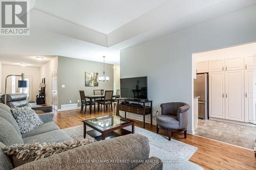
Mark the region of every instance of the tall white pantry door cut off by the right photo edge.
POLYGON ((256 69, 245 70, 245 122, 256 119, 256 69))

